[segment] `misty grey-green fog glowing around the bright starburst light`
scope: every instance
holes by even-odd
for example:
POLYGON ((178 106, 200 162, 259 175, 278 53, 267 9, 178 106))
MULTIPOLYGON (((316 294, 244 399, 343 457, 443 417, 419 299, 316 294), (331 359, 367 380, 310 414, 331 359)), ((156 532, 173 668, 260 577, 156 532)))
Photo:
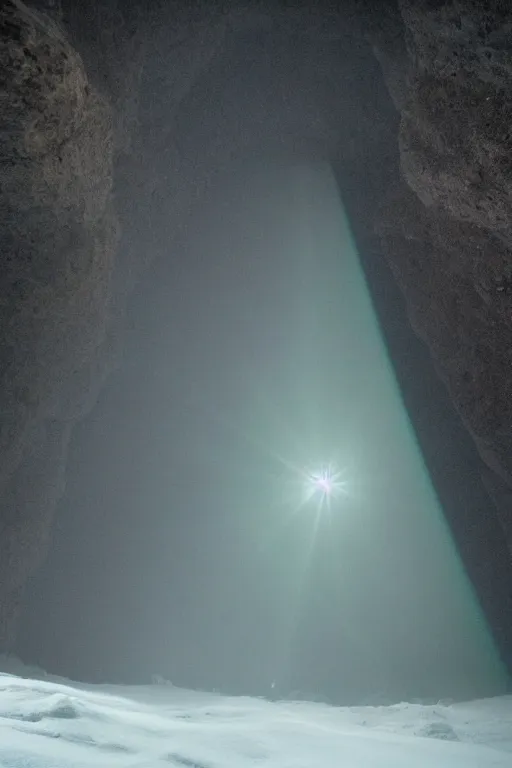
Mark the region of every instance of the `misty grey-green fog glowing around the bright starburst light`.
POLYGON ((501 692, 329 167, 219 180, 130 317, 22 655, 342 703, 501 692), (328 465, 339 493, 305 501, 328 465))

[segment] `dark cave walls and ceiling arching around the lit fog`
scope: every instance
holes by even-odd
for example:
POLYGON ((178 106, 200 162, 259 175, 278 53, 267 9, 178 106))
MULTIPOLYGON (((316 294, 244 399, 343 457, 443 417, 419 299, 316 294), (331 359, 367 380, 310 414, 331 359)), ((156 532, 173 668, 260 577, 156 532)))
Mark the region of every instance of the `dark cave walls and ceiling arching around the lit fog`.
MULTIPOLYGON (((378 273, 382 247, 512 550, 511 17, 482 9, 3 4, 1 648, 48 549, 73 426, 119 362, 127 300, 211 179, 241 157, 319 154, 338 169, 357 201, 367 272, 378 273), (291 39, 300 54, 270 60, 277 86, 258 92, 255 81, 252 102, 240 84, 247 114, 236 128, 238 104, 220 115, 210 106, 230 75, 220 54, 258 34, 274 51, 291 39), (372 52, 388 92, 364 75, 372 52)), ((482 536, 492 515, 482 512, 482 536)), ((464 537, 463 515, 458 524, 464 537)))

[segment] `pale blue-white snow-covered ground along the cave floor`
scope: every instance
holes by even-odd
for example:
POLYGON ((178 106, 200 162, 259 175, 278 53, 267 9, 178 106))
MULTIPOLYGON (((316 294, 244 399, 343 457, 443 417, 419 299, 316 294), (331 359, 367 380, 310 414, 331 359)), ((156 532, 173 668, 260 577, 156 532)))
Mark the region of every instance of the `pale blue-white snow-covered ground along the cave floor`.
POLYGON ((1 768, 512 766, 510 696, 336 708, 31 679, 0 660, 2 668, 1 768))

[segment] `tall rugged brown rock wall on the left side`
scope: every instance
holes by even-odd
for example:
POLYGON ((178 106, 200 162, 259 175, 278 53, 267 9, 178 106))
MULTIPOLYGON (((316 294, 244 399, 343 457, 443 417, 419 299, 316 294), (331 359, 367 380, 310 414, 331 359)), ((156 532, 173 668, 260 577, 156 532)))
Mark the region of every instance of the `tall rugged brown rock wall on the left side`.
POLYGON ((0 10, 0 615, 12 622, 63 488, 69 380, 97 360, 117 243, 112 114, 61 29, 0 10), (64 403, 64 405, 63 405, 64 403))

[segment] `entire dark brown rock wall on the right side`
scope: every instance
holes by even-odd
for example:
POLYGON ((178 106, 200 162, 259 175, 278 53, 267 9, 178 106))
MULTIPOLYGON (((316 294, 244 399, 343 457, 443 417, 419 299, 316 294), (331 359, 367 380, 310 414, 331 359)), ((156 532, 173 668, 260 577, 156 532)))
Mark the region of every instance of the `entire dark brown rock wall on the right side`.
POLYGON ((413 327, 497 475, 488 483, 512 549, 512 10, 476 0, 401 10, 404 182, 379 229, 413 327))

